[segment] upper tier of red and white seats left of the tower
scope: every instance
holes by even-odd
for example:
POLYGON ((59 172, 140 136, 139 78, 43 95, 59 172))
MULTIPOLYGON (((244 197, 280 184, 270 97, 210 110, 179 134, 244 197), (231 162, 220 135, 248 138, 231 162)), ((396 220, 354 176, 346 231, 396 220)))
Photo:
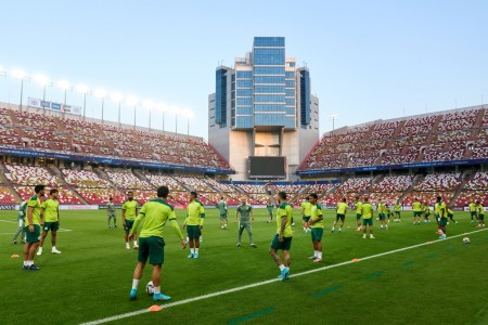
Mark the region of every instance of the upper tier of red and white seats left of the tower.
MULTIPOLYGON (((230 169, 202 139, 0 108, 0 145, 230 169)), ((130 182, 130 180, 128 180, 130 182)))

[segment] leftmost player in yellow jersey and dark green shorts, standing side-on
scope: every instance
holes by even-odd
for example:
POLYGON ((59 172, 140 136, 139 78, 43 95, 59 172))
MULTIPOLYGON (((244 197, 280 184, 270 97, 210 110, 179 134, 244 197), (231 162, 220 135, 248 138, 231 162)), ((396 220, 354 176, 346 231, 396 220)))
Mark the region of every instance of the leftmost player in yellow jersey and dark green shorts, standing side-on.
POLYGON ((27 202, 27 219, 25 225, 26 243, 24 245, 24 270, 39 271, 34 264, 34 255, 39 246, 40 225, 43 223, 40 197, 44 196, 44 185, 34 187, 36 194, 27 202))

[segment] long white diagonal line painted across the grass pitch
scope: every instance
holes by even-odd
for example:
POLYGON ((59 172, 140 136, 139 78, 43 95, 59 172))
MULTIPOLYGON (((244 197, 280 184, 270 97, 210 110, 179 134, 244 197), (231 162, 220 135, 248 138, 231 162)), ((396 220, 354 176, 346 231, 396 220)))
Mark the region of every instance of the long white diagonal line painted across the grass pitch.
MULTIPOLYGON (((403 251, 403 250, 409 250, 409 249, 413 249, 413 248, 418 248, 418 247, 422 247, 422 246, 426 246, 426 245, 433 245, 433 244, 437 244, 437 243, 442 243, 442 242, 448 240, 448 239, 462 237, 462 236, 465 236, 465 235, 468 235, 468 234, 474 234, 474 233, 483 232, 483 231, 486 231, 486 230, 488 230, 488 229, 481 229, 481 230, 476 230, 476 231, 472 231, 472 232, 460 234, 460 235, 454 235, 454 236, 451 236, 451 237, 447 237, 446 239, 437 239, 437 240, 434 240, 434 242, 426 242, 426 243, 422 243, 422 244, 418 244, 418 245, 413 245, 413 246, 408 246, 408 247, 403 247, 403 248, 399 248, 399 249, 394 249, 394 250, 389 250, 389 251, 385 251, 385 252, 381 252, 381 253, 376 253, 376 255, 359 258, 359 260, 360 261, 370 260, 370 259, 378 258, 378 257, 382 257, 382 256, 400 252, 400 251, 403 251)), ((345 262, 333 264, 333 265, 322 266, 322 268, 319 268, 319 269, 313 269, 313 270, 296 273, 296 274, 290 275, 290 277, 298 277, 298 276, 303 276, 303 275, 306 275, 306 274, 321 272, 321 271, 325 271, 325 270, 334 269, 334 268, 338 268, 338 266, 344 266, 344 265, 351 264, 351 263, 356 263, 356 262, 352 261, 352 260, 345 261, 345 262)), ((194 297, 194 298, 189 298, 189 299, 184 299, 184 300, 180 300, 180 301, 175 301, 175 302, 170 302, 170 303, 160 304, 160 307, 163 309, 168 309, 170 307, 176 307, 176 306, 185 304, 185 303, 190 303, 190 302, 194 302, 194 301, 198 301, 198 300, 214 298, 214 297, 218 297, 218 296, 222 296, 222 295, 227 295, 227 294, 232 294, 232 292, 236 292, 236 291, 241 291, 241 290, 245 290, 245 289, 249 289, 249 288, 260 287, 260 286, 264 286, 264 285, 267 285, 267 284, 270 284, 270 283, 275 283, 275 282, 278 282, 278 278, 267 280, 267 281, 262 281, 262 282, 245 285, 245 286, 242 286, 242 287, 235 287, 235 288, 232 288, 232 289, 227 289, 227 290, 223 290, 223 291, 218 291, 218 292, 214 292, 214 294, 203 295, 203 296, 198 296, 198 297, 194 297)), ((103 323, 118 321, 118 320, 123 320, 123 318, 127 318, 127 317, 131 317, 131 316, 137 316, 137 315, 140 315, 140 314, 145 314, 145 313, 149 313, 149 312, 150 311, 147 309, 141 309, 141 310, 129 312, 129 313, 125 313, 125 314, 119 314, 119 315, 115 315, 115 316, 111 316, 111 317, 106 317, 106 318, 101 318, 101 320, 97 320, 97 321, 92 321, 92 322, 81 323, 80 325, 103 324, 103 323)))

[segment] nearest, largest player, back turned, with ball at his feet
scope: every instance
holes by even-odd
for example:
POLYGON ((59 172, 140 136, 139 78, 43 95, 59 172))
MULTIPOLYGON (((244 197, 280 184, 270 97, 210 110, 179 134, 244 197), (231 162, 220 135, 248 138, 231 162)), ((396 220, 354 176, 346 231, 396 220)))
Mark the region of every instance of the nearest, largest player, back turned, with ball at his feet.
POLYGON ((142 277, 147 258, 150 264, 153 265, 152 281, 154 285, 153 300, 169 300, 171 297, 160 292, 160 270, 165 261, 165 239, 163 238, 163 230, 167 221, 171 224, 178 238, 181 240, 183 249, 187 247, 183 235, 181 234, 178 222, 176 221, 174 207, 166 202, 169 188, 160 186, 157 188, 157 198, 146 202, 141 209, 141 212, 136 218, 136 222, 130 231, 130 240, 136 238, 138 227, 143 222, 141 233, 139 234, 139 256, 138 265, 133 271, 132 289, 129 298, 136 299, 138 292, 139 281, 142 277))

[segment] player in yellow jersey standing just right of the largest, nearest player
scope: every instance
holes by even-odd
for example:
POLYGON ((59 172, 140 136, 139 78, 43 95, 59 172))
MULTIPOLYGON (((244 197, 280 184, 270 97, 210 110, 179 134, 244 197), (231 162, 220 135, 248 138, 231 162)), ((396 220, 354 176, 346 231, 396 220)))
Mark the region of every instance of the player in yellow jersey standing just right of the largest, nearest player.
POLYGON ((196 192, 190 192, 190 203, 188 205, 187 234, 190 242, 189 259, 197 259, 200 250, 200 235, 202 234, 205 220, 205 209, 203 204, 196 199, 196 192))

